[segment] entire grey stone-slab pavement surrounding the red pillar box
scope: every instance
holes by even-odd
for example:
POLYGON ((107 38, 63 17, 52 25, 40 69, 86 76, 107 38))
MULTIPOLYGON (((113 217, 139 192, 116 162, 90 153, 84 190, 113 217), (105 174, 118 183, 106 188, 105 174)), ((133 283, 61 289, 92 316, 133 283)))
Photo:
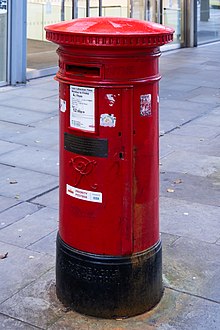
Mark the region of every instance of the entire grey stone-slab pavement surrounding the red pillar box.
POLYGON ((160 230, 165 293, 152 311, 102 320, 55 296, 58 86, 0 89, 0 329, 220 329, 220 43, 164 53, 160 230))

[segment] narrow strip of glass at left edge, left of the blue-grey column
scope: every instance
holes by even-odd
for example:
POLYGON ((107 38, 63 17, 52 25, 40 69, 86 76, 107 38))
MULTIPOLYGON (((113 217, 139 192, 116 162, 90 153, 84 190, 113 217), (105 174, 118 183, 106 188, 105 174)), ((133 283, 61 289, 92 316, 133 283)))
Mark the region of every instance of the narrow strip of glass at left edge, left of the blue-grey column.
POLYGON ((8 4, 0 0, 0 86, 7 81, 7 53, 8 53, 8 4))

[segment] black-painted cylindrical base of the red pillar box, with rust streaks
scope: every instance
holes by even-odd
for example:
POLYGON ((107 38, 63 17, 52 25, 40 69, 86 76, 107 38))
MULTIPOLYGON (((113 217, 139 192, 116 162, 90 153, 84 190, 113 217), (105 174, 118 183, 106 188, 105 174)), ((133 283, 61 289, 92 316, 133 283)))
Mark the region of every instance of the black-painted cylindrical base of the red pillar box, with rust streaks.
POLYGON ((162 297, 162 248, 132 256, 96 255, 76 250, 57 236, 57 296, 75 311, 101 318, 144 313, 162 297))

